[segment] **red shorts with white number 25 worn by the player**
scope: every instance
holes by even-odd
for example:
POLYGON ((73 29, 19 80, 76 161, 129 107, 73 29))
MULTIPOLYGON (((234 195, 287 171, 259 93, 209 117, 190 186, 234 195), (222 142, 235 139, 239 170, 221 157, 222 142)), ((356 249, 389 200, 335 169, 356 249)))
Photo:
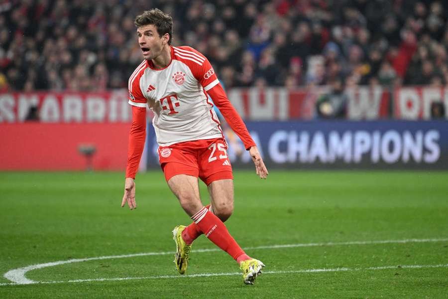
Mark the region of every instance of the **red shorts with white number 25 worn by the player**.
POLYGON ((166 181, 177 174, 199 177, 207 185, 220 179, 233 179, 224 138, 182 142, 159 147, 157 152, 166 181))

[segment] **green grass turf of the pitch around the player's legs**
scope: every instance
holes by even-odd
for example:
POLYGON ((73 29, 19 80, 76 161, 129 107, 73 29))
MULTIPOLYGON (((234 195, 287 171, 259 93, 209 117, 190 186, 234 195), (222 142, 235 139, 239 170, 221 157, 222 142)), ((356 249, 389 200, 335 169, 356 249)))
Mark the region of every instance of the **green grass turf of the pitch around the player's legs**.
MULTIPOLYGON (((448 238, 448 172, 272 171, 264 181, 236 170, 235 211, 226 222, 242 247, 448 238)), ((0 283, 33 264, 171 252, 171 230, 189 218, 159 171, 137 176, 135 211, 120 208, 122 173, 0 173, 0 283)), ((201 184, 204 202, 206 188, 201 184)), ((237 273, 204 236, 188 274, 237 273)), ((93 260, 33 270, 0 298, 447 298, 448 241, 247 250, 269 271, 254 286, 239 275, 177 276, 171 255, 93 260), (392 269, 366 269, 394 266, 392 269), (397 267, 395 267, 397 266, 397 267), (402 266, 401 268, 398 266, 402 266), (355 269, 355 270, 353 270, 355 269), (176 278, 148 278, 176 276, 176 278), (63 283, 68 280, 135 278, 63 283)))

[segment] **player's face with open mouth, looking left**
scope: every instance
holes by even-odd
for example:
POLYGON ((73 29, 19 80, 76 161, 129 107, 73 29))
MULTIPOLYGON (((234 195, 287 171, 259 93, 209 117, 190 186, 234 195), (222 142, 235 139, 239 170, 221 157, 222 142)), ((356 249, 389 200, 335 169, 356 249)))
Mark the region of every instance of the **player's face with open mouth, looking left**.
POLYGON ((162 53, 165 36, 160 37, 154 25, 144 25, 137 28, 138 44, 146 60, 154 59, 162 53))

